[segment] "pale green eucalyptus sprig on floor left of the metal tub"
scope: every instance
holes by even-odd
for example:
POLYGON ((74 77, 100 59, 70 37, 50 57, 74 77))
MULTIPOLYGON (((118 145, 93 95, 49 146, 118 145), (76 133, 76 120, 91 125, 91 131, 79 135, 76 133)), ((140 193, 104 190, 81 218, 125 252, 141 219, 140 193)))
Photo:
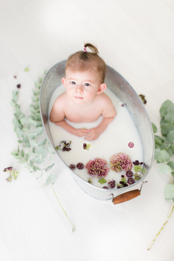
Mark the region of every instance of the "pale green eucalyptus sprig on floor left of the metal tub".
MULTIPOLYGON (((18 148, 16 151, 12 151, 12 155, 19 160, 18 162, 24 164, 24 166, 38 174, 37 178, 44 178, 46 175, 44 186, 50 185, 58 202, 59 199, 53 189, 53 184, 57 178, 57 173, 50 173, 50 170, 54 166, 54 163, 50 163, 54 160, 54 151, 48 143, 43 131, 41 115, 39 111, 39 93, 43 78, 40 78, 38 82, 35 82, 35 89, 32 90, 32 104, 30 104, 30 115, 26 115, 21 111, 18 102, 18 91, 12 91, 11 105, 14 107, 14 131, 18 138, 18 148), (49 174, 50 173, 50 174, 49 174)), ((61 203, 59 202, 63 209, 61 203)), ((63 209, 64 211, 64 209, 63 209)), ((64 211, 68 218, 66 212, 64 211)), ((69 218, 68 218, 69 220, 69 218)), ((70 222, 70 220, 69 220, 70 222)), ((71 224, 71 222, 70 222, 71 224)), ((75 231, 71 224, 73 231, 75 231)))

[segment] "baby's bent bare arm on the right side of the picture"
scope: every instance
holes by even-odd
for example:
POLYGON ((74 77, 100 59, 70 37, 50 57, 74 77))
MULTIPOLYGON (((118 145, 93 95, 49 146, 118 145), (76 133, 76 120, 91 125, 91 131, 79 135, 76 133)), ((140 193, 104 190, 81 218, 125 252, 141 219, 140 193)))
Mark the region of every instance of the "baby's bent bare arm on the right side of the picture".
POLYGON ((106 100, 104 101, 104 110, 102 112, 102 116, 104 117, 102 122, 96 127, 91 128, 90 132, 86 135, 84 139, 88 140, 95 140, 97 139, 101 133, 103 133, 108 124, 113 121, 114 117, 117 115, 115 108, 113 106, 112 101, 107 96, 106 100))

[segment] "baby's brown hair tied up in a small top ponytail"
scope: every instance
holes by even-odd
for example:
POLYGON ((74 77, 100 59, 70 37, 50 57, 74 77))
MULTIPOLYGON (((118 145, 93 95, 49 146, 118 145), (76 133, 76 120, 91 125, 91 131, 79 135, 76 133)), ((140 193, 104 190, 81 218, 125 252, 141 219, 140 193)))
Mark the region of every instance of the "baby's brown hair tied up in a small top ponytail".
POLYGON ((101 83, 104 83, 106 74, 106 63, 98 55, 98 49, 95 45, 91 43, 84 44, 84 51, 78 51, 70 55, 66 61, 65 73, 69 68, 73 71, 86 71, 91 69, 99 73, 101 83), (89 48, 92 52, 86 51, 89 48))

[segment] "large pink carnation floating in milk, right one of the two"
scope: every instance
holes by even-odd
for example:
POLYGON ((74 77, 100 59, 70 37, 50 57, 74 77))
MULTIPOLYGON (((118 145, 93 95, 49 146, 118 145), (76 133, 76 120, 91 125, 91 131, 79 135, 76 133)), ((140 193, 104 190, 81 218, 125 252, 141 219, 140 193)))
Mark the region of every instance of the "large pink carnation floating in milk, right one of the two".
POLYGON ((128 155, 124 154, 124 153, 118 153, 118 154, 114 154, 112 155, 112 157, 110 157, 110 168, 113 171, 121 171, 121 170, 125 170, 127 171, 128 169, 131 170, 132 169, 132 162, 131 159, 128 155))

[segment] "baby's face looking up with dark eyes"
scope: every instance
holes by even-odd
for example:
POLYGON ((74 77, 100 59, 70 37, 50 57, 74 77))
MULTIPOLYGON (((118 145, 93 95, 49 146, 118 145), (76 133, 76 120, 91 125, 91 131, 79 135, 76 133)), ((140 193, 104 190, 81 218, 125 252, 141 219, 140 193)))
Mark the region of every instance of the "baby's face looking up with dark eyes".
POLYGON ((66 78, 62 78, 68 97, 75 104, 90 104, 100 91, 101 80, 91 70, 80 72, 66 70, 66 78))

